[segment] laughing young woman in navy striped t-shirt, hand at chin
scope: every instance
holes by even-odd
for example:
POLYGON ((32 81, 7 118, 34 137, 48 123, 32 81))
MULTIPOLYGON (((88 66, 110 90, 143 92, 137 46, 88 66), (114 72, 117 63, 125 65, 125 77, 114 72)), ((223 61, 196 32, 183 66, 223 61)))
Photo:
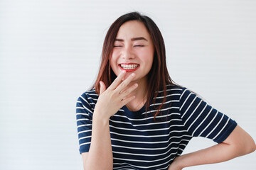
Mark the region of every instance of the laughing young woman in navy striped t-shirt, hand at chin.
POLYGON ((174 84, 159 28, 136 12, 110 26, 95 86, 78 98, 76 111, 86 170, 180 170, 255 151, 234 120, 174 84), (198 136, 218 144, 181 155, 198 136))

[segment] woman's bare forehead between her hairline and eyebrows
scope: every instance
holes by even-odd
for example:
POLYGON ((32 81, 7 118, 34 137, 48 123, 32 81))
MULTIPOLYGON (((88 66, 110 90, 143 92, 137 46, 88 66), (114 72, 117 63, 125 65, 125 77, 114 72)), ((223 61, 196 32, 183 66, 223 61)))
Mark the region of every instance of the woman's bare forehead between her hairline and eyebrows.
POLYGON ((139 21, 127 21, 123 23, 117 33, 117 38, 134 38, 145 37, 150 38, 149 32, 144 23, 139 21))

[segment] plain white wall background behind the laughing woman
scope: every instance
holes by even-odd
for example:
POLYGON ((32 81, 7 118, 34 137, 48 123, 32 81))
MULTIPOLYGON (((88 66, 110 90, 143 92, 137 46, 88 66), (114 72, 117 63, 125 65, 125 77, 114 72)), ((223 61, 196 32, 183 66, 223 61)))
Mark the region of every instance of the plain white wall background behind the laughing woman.
MULTIPOLYGON (((0 1, 0 169, 82 169, 75 102, 107 28, 139 11, 159 26, 169 73, 256 140, 256 1, 0 1)), ((184 153, 210 145, 193 139, 184 153)), ((255 169, 256 153, 187 169, 255 169)))

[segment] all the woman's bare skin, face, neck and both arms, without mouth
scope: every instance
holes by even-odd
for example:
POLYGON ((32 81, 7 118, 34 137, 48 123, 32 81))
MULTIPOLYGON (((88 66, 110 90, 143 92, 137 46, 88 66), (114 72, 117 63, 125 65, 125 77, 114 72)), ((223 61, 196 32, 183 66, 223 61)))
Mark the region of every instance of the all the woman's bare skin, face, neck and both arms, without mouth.
MULTIPOLYGON (((146 77, 154 58, 154 45, 151 37, 143 23, 128 21, 119 28, 116 39, 110 64, 117 79, 107 89, 104 82, 100 81, 100 96, 92 118, 90 150, 82 153, 86 170, 113 169, 110 116, 117 113, 124 105, 131 111, 138 111, 146 101, 146 77), (134 40, 134 38, 146 40, 134 40), (139 68, 134 72, 122 72, 119 67, 120 63, 137 63, 139 68)), ((181 170, 188 166, 224 162, 254 152, 255 149, 256 145, 252 137, 237 126, 222 143, 176 157, 168 170, 181 170)))

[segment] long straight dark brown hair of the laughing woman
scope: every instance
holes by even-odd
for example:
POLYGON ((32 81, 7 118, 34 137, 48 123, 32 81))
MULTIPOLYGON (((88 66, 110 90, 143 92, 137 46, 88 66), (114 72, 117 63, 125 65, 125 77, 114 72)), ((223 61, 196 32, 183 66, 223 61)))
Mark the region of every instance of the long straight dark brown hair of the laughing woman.
POLYGON ((153 65, 147 76, 147 91, 149 91, 149 94, 146 100, 146 111, 149 110, 151 100, 154 98, 153 103, 155 103, 156 96, 158 96, 159 91, 163 91, 164 98, 161 101, 161 105, 154 105, 155 109, 157 110, 154 115, 154 120, 156 120, 156 115, 159 115, 160 109, 163 107, 164 102, 166 101, 166 85, 174 84, 174 81, 169 76, 166 67, 166 50, 164 45, 164 38, 162 37, 159 28, 156 26, 156 23, 154 23, 154 21, 152 21, 148 16, 142 16, 138 12, 132 12, 120 16, 116 21, 114 21, 114 23, 112 23, 104 40, 100 70, 93 87, 95 87, 96 93, 100 94, 100 81, 103 81, 107 88, 117 77, 110 67, 110 57, 112 56, 114 40, 117 36, 117 32, 120 26, 122 26, 122 24, 127 21, 139 21, 144 23, 144 26, 146 26, 147 30, 149 31, 149 35, 151 35, 151 39, 154 43, 153 65))

